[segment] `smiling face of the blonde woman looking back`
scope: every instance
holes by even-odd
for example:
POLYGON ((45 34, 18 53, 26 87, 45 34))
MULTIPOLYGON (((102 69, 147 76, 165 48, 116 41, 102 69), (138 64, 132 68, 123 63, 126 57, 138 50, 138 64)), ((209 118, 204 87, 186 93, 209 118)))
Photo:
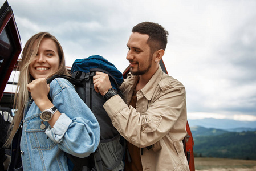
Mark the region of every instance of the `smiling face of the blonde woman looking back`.
POLYGON ((47 78, 59 69, 58 48, 54 40, 43 38, 35 59, 29 64, 29 73, 34 79, 47 78))

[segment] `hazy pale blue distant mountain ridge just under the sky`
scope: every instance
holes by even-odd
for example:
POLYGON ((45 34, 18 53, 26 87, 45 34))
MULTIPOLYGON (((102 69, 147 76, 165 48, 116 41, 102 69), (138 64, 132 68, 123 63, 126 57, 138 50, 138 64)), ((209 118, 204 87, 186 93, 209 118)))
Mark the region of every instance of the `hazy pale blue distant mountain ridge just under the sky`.
POLYGON ((256 121, 238 121, 232 119, 188 119, 190 127, 200 126, 205 128, 234 129, 234 128, 256 128, 256 121))

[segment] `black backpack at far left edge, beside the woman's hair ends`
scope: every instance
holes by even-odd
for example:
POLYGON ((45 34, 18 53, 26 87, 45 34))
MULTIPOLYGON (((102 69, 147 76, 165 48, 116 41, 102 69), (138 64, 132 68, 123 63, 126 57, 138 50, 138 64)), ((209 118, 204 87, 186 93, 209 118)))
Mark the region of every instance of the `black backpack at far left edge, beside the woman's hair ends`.
POLYGON ((6 152, 10 155, 10 149, 3 148, 6 142, 7 132, 13 121, 11 109, 7 107, 0 108, 0 170, 4 170, 3 162, 7 159, 6 152))

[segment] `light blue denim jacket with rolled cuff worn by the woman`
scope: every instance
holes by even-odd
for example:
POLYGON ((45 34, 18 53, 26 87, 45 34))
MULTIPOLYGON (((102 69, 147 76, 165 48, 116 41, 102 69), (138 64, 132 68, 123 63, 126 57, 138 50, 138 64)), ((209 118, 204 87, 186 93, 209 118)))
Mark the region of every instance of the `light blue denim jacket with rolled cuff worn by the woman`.
POLYGON ((64 152, 82 158, 99 145, 99 123, 74 86, 56 78, 50 84, 50 96, 62 113, 53 128, 40 119, 41 111, 33 101, 26 104, 21 138, 23 170, 68 170, 64 152), (40 128, 42 123, 45 129, 40 128))

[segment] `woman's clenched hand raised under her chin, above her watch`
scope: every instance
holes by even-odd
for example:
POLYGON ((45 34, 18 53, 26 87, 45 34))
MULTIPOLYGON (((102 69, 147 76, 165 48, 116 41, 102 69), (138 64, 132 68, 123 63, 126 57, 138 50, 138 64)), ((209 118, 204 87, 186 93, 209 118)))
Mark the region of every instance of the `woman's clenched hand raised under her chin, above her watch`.
POLYGON ((41 111, 44 109, 47 103, 51 103, 51 101, 48 99, 50 86, 47 85, 46 78, 32 80, 31 83, 27 84, 27 90, 31 93, 35 104, 41 109, 41 111))

